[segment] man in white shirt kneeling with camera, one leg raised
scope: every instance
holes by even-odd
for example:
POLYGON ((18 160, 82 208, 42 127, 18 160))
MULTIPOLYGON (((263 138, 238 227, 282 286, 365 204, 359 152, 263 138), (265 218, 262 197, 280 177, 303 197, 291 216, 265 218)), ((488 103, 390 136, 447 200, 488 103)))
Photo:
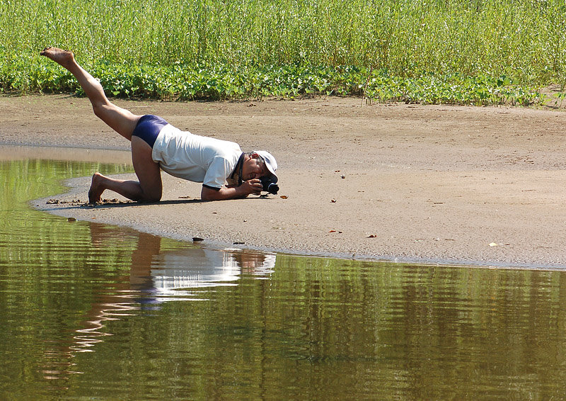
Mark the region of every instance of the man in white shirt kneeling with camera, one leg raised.
POLYGON ((79 81, 95 115, 132 142, 132 163, 139 181, 93 175, 88 202, 100 202, 109 189, 128 199, 156 202, 163 186, 161 169, 172 176, 202 182, 202 200, 246 198, 261 191, 277 193, 277 162, 269 152, 243 153, 234 142, 181 131, 156 115, 135 115, 110 103, 97 79, 72 52, 46 47, 40 55, 66 68, 79 81))

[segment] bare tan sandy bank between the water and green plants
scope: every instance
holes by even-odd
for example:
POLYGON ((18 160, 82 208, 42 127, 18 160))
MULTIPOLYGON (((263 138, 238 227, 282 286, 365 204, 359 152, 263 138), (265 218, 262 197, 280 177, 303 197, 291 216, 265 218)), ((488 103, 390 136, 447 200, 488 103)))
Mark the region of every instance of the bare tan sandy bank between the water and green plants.
MULTIPOLYGON (((160 203, 84 207, 90 177, 33 205, 214 247, 493 266, 566 266, 566 114, 369 104, 360 98, 116 101, 182 130, 266 149, 277 196, 200 201, 163 173, 160 203), (53 198, 53 197, 51 197, 53 198)), ((2 159, 128 162, 129 142, 86 98, 1 96, 2 159)), ((94 171, 93 171, 94 172, 94 171)), ((128 175, 134 178, 134 175, 128 175)), ((106 199, 120 199, 115 193, 106 199)))

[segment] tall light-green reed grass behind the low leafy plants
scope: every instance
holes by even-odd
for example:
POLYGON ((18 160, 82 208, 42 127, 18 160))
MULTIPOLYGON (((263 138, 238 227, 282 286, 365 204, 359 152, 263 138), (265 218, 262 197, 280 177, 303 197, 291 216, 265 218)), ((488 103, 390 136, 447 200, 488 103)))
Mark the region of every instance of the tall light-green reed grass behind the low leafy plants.
MULTIPOLYGON (((368 72, 357 89, 338 90, 345 94, 367 89, 371 72, 451 82, 503 75, 524 91, 551 82, 563 90, 564 26, 564 0, 0 0, 0 69, 25 76, 19 58, 35 60, 45 45, 58 45, 87 65, 228 69, 236 81, 289 66, 368 72)), ((34 79, 21 78, 18 88, 0 75, 0 86, 37 90, 34 79)))

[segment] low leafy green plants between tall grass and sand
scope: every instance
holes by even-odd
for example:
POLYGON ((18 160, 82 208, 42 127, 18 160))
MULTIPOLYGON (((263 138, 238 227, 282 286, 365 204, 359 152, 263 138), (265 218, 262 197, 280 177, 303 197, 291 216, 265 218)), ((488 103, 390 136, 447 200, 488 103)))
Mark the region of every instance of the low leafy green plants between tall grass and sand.
MULTIPOLYGON (((6 59, 4 59, 6 60, 6 59)), ((168 67, 104 60, 86 68, 109 96, 177 100, 228 100, 264 96, 364 96, 371 101, 448 103, 466 105, 540 103, 537 89, 512 79, 461 74, 420 74, 395 77, 386 70, 365 67, 309 67, 284 65, 248 68, 168 67)), ((67 71, 53 63, 29 57, 0 66, 2 91, 21 93, 71 92, 83 95, 67 71)))

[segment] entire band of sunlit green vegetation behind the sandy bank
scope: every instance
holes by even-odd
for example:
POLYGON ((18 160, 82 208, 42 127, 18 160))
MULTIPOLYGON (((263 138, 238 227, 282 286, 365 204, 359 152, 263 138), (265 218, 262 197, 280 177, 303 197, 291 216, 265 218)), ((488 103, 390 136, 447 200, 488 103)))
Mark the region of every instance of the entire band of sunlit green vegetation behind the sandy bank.
POLYGON ((565 23, 561 0, 0 0, 0 90, 80 94, 57 45, 117 97, 541 103, 565 23))

